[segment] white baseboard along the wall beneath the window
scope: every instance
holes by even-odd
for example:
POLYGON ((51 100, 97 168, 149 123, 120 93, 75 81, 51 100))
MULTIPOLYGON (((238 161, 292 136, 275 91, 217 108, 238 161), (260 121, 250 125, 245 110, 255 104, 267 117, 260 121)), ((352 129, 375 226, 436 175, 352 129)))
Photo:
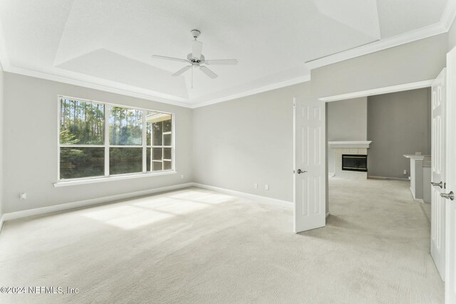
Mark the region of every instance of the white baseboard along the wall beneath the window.
POLYGON ((99 197, 96 199, 87 199, 85 201, 73 201, 71 203, 66 203, 66 204, 58 204, 58 205, 53 205, 53 206, 46 206, 46 207, 41 207, 41 208, 10 212, 10 213, 6 213, 3 216, 1 216, 0 223, 3 223, 3 221, 11 221, 12 219, 22 219, 22 218, 28 217, 28 216, 48 214, 48 213, 56 212, 56 211, 66 211, 66 210, 70 210, 70 209, 76 209, 76 208, 81 208, 81 207, 86 207, 86 206, 91 206, 91 205, 103 204, 103 203, 107 203, 110 201, 118 201, 120 199, 131 199, 136 196, 155 194, 155 193, 159 193, 159 192, 167 192, 170 190, 192 187, 192 185, 193 185, 193 183, 190 182, 187 184, 177 184, 174 186, 142 190, 142 191, 137 191, 137 192, 125 193, 125 194, 103 196, 103 197, 99 197))

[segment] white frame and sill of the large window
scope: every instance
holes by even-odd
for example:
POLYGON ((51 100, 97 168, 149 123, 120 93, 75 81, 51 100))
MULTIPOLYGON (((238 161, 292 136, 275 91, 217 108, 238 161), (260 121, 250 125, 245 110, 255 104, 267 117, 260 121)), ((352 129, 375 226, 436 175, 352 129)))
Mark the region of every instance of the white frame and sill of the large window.
MULTIPOLYGON (((152 136, 152 135, 151 135, 152 136)), ((57 95, 57 182, 54 183, 54 187, 61 187, 70 184, 88 184, 93 182, 108 182, 111 180, 118 180, 118 179, 130 179, 136 177, 152 177, 152 176, 160 176, 165 174, 175 174, 176 171, 176 161, 175 161, 175 113, 166 112, 161 110, 152 110, 150 108, 138 108, 130 105, 122 105, 118 103, 107 103, 98 100, 88 100, 86 98, 74 98, 68 95, 57 95), (61 145, 60 143, 60 133, 61 133, 61 99, 70 99, 70 100, 78 100, 84 103, 95 103, 98 105, 103 105, 104 107, 104 123, 103 123, 103 145, 61 145), (109 115, 110 115, 110 107, 118 107, 118 108, 128 108, 132 110, 141 110, 142 111, 142 145, 110 145, 109 142, 109 115), (152 164, 150 167, 151 171, 147 171, 147 117, 146 112, 160 112, 163 114, 167 114, 171 116, 171 169, 161 170, 161 171, 152 171, 152 164), (77 177, 74 179, 61 179, 61 148, 68 148, 68 147, 81 147, 81 148, 103 148, 105 152, 105 164, 104 164, 104 172, 103 176, 96 176, 96 177, 77 177), (134 172, 134 173, 123 173, 123 174, 109 174, 110 170, 110 156, 109 150, 113 147, 119 148, 141 148, 142 149, 142 171, 141 172, 134 172)), ((152 142, 151 142, 152 144, 152 142)), ((152 147, 152 146, 151 146, 152 147)))

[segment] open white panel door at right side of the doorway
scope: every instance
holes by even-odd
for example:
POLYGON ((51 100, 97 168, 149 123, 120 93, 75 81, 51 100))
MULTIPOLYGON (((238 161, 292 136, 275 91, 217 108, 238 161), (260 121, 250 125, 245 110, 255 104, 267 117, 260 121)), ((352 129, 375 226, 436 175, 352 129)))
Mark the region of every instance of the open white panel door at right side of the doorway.
POLYGON ((432 83, 432 186, 430 254, 440 277, 445 281, 445 79, 446 70, 432 83))

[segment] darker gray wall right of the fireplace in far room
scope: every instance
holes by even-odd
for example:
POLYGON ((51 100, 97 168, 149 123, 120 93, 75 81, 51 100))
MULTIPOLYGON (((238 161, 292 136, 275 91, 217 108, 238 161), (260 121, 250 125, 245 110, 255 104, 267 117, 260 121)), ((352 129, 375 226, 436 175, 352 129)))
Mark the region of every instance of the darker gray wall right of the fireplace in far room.
POLYGON ((407 178, 403 154, 430 154, 430 88, 368 98, 368 176, 407 178))

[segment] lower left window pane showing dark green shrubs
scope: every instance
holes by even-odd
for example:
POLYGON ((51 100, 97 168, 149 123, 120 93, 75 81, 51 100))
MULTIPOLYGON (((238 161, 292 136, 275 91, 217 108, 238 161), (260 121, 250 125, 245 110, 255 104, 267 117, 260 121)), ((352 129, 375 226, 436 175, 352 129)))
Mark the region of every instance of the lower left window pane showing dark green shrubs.
POLYGON ((60 178, 101 177, 105 174, 104 148, 61 148, 60 178))

